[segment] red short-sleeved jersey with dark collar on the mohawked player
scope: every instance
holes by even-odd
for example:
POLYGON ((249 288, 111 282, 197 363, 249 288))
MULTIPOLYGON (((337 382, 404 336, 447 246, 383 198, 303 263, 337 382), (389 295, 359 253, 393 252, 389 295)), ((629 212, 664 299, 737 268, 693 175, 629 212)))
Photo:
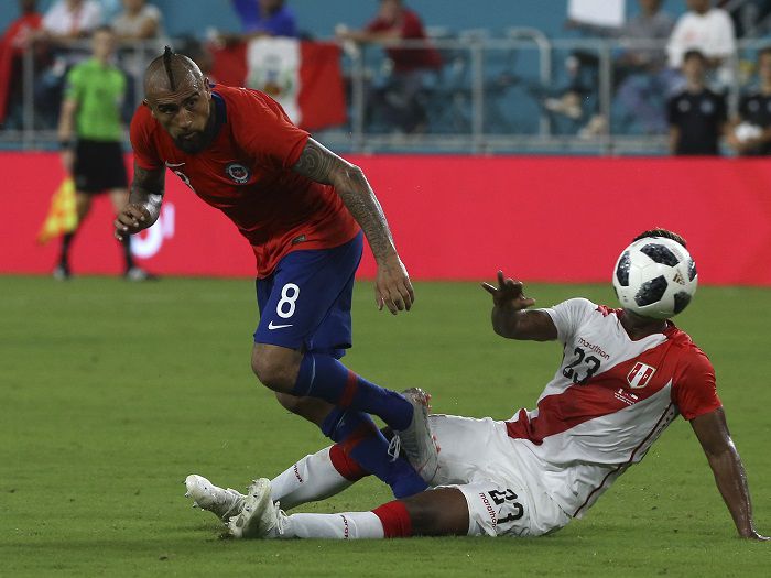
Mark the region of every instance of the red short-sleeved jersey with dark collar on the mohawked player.
POLYGON ((140 106, 131 121, 134 161, 145 170, 165 165, 225 212, 251 243, 258 277, 270 275, 291 251, 338 247, 358 233, 334 187, 292 172, 308 133, 275 100, 221 85, 211 98, 218 133, 197 154, 177 149, 150 109, 140 106))

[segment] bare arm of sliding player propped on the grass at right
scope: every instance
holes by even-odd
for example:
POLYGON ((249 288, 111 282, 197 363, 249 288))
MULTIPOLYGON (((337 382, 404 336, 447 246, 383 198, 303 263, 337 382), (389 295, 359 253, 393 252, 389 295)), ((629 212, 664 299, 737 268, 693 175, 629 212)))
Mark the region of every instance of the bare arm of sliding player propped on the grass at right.
POLYGON ((749 539, 768 541, 754 527, 747 473, 728 432, 723 408, 694 417, 691 427, 707 456, 717 488, 739 535, 749 539))

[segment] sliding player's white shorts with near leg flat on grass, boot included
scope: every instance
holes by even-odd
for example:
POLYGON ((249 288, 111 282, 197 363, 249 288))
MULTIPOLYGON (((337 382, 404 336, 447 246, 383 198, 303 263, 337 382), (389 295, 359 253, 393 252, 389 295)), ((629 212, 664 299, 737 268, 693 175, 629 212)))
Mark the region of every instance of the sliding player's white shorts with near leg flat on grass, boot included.
MULTIPOLYGON (((442 452, 434 490, 389 502, 371 512, 286 515, 270 501, 270 481, 249 488, 241 513, 228 524, 235 537, 383 538, 412 535, 539 536, 569 516, 540 479, 535 462, 514 448, 506 426, 492 419, 435 416, 442 452), (454 482, 454 483, 453 483, 454 482), (268 498, 265 497, 268 495, 268 498)), ((435 422, 435 421, 433 421, 435 422)))

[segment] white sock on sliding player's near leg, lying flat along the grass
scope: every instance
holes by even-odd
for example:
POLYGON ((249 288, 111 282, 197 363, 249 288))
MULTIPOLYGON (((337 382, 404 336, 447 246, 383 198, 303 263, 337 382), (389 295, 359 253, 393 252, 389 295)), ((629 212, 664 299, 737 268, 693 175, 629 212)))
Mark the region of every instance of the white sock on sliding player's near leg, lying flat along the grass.
POLYGON ((383 524, 372 512, 343 514, 292 514, 283 521, 282 533, 273 538, 379 539, 386 537, 383 524))

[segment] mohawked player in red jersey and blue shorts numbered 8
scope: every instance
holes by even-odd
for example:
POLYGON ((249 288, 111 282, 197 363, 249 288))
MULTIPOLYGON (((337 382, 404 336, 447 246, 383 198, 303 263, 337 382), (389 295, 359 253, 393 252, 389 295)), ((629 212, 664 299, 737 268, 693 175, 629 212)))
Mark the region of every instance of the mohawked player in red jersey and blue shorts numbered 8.
POLYGON ((166 170, 220 209, 257 260, 260 323, 251 364, 258 379, 284 407, 344 444, 394 495, 423 490, 410 464, 388 455, 389 443, 369 414, 411 432, 424 400, 380 388, 339 361, 351 345, 361 230, 378 263, 378 306, 395 315, 414 301, 361 170, 295 127, 269 96, 210 85, 193 61, 171 48, 149 65, 144 90, 131 122, 131 196, 115 221, 116 237, 155 222, 166 170))

